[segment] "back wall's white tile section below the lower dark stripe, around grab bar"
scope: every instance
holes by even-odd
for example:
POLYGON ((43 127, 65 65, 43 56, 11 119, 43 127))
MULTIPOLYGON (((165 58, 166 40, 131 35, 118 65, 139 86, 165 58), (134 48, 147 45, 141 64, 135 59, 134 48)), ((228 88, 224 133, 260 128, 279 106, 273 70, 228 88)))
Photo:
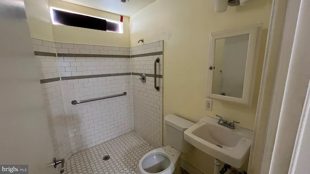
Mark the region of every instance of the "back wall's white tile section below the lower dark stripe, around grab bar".
POLYGON ((130 75, 62 80, 65 111, 73 152, 78 152, 133 130, 130 75), (105 100, 73 105, 127 92, 105 100))

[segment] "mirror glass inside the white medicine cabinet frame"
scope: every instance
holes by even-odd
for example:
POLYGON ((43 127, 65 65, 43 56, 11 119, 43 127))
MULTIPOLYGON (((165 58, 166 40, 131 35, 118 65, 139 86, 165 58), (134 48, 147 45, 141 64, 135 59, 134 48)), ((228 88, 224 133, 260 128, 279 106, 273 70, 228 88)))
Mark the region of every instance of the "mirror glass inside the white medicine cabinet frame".
POLYGON ((242 98, 249 34, 215 40, 212 94, 242 98))

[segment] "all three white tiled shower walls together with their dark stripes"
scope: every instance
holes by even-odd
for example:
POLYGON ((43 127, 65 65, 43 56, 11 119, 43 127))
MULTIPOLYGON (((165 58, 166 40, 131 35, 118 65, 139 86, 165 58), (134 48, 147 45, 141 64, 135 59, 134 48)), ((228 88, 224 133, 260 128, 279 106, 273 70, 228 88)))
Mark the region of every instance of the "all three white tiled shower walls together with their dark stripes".
POLYGON ((74 153, 135 130, 162 146, 163 41, 126 48, 32 39, 54 154, 74 153), (155 89, 154 62, 157 63, 155 89), (146 83, 139 79, 146 75, 146 83), (125 96, 71 104, 115 94, 125 96))

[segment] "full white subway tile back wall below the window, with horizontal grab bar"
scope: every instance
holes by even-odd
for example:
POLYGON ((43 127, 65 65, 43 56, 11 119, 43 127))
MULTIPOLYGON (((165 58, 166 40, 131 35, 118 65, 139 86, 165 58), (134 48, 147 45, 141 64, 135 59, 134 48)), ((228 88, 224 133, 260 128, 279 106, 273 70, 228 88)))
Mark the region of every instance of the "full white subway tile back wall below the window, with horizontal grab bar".
MULTIPOLYGON (((130 55, 130 48, 56 43, 58 53, 130 55), (60 51, 60 52, 59 52, 60 51)), ((130 73, 130 58, 58 57, 61 77, 130 73)), ((133 130, 131 77, 111 76, 62 80, 65 111, 73 152, 101 144, 133 130), (109 95, 126 96, 72 105, 109 95)))

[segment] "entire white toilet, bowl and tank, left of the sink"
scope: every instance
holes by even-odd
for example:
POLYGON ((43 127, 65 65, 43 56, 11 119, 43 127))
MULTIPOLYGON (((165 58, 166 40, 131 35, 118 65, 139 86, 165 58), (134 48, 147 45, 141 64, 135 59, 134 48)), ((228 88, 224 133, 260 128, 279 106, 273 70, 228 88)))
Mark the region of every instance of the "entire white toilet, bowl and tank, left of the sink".
POLYGON ((172 174, 180 163, 181 153, 193 146, 184 140, 184 131, 194 125, 181 117, 169 114, 165 117, 167 146, 145 154, 139 161, 139 174, 172 174))

